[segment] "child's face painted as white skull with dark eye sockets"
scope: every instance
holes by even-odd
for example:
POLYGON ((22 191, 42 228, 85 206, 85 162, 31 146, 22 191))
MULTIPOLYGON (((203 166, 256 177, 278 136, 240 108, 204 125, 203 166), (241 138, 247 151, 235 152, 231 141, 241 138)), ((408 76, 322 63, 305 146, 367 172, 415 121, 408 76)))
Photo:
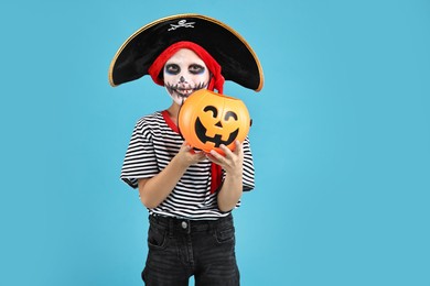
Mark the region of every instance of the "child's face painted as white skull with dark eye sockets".
POLYGON ((195 90, 207 88, 209 70, 205 63, 191 50, 179 50, 164 65, 164 86, 178 105, 195 90))

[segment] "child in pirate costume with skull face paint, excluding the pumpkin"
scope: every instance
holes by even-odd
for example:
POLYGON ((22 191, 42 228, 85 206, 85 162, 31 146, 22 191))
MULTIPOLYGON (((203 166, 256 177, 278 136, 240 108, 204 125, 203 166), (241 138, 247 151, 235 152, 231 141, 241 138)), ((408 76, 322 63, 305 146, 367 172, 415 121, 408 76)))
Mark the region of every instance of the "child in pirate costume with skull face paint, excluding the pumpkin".
POLYGON ((249 45, 230 28, 198 14, 154 21, 118 51, 112 86, 150 75, 172 105, 140 119, 121 178, 139 189, 149 210, 147 285, 239 285, 232 210, 254 188, 249 140, 225 155, 193 150, 178 130, 178 114, 198 89, 223 92, 230 79, 259 91, 262 72, 249 45), (224 41, 223 44, 215 43, 224 41))

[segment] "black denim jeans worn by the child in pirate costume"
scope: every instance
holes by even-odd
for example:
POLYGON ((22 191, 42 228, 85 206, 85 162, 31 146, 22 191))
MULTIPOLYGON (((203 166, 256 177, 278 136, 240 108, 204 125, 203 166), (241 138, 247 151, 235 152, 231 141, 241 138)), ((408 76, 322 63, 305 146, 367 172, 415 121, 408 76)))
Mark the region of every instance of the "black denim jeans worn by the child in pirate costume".
POLYGON ((142 279, 149 286, 237 286, 233 217, 181 220, 149 216, 148 258, 142 279))

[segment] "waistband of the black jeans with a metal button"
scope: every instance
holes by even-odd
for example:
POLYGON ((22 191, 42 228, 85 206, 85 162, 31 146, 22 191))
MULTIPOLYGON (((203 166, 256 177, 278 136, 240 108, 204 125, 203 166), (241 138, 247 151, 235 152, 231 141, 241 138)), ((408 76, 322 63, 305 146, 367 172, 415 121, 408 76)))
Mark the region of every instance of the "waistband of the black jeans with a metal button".
POLYGON ((206 231, 212 229, 233 227, 233 216, 229 213, 227 217, 222 217, 216 220, 187 220, 173 217, 163 217, 158 215, 150 215, 149 222, 152 226, 158 226, 173 231, 181 231, 191 233, 194 231, 206 231))

